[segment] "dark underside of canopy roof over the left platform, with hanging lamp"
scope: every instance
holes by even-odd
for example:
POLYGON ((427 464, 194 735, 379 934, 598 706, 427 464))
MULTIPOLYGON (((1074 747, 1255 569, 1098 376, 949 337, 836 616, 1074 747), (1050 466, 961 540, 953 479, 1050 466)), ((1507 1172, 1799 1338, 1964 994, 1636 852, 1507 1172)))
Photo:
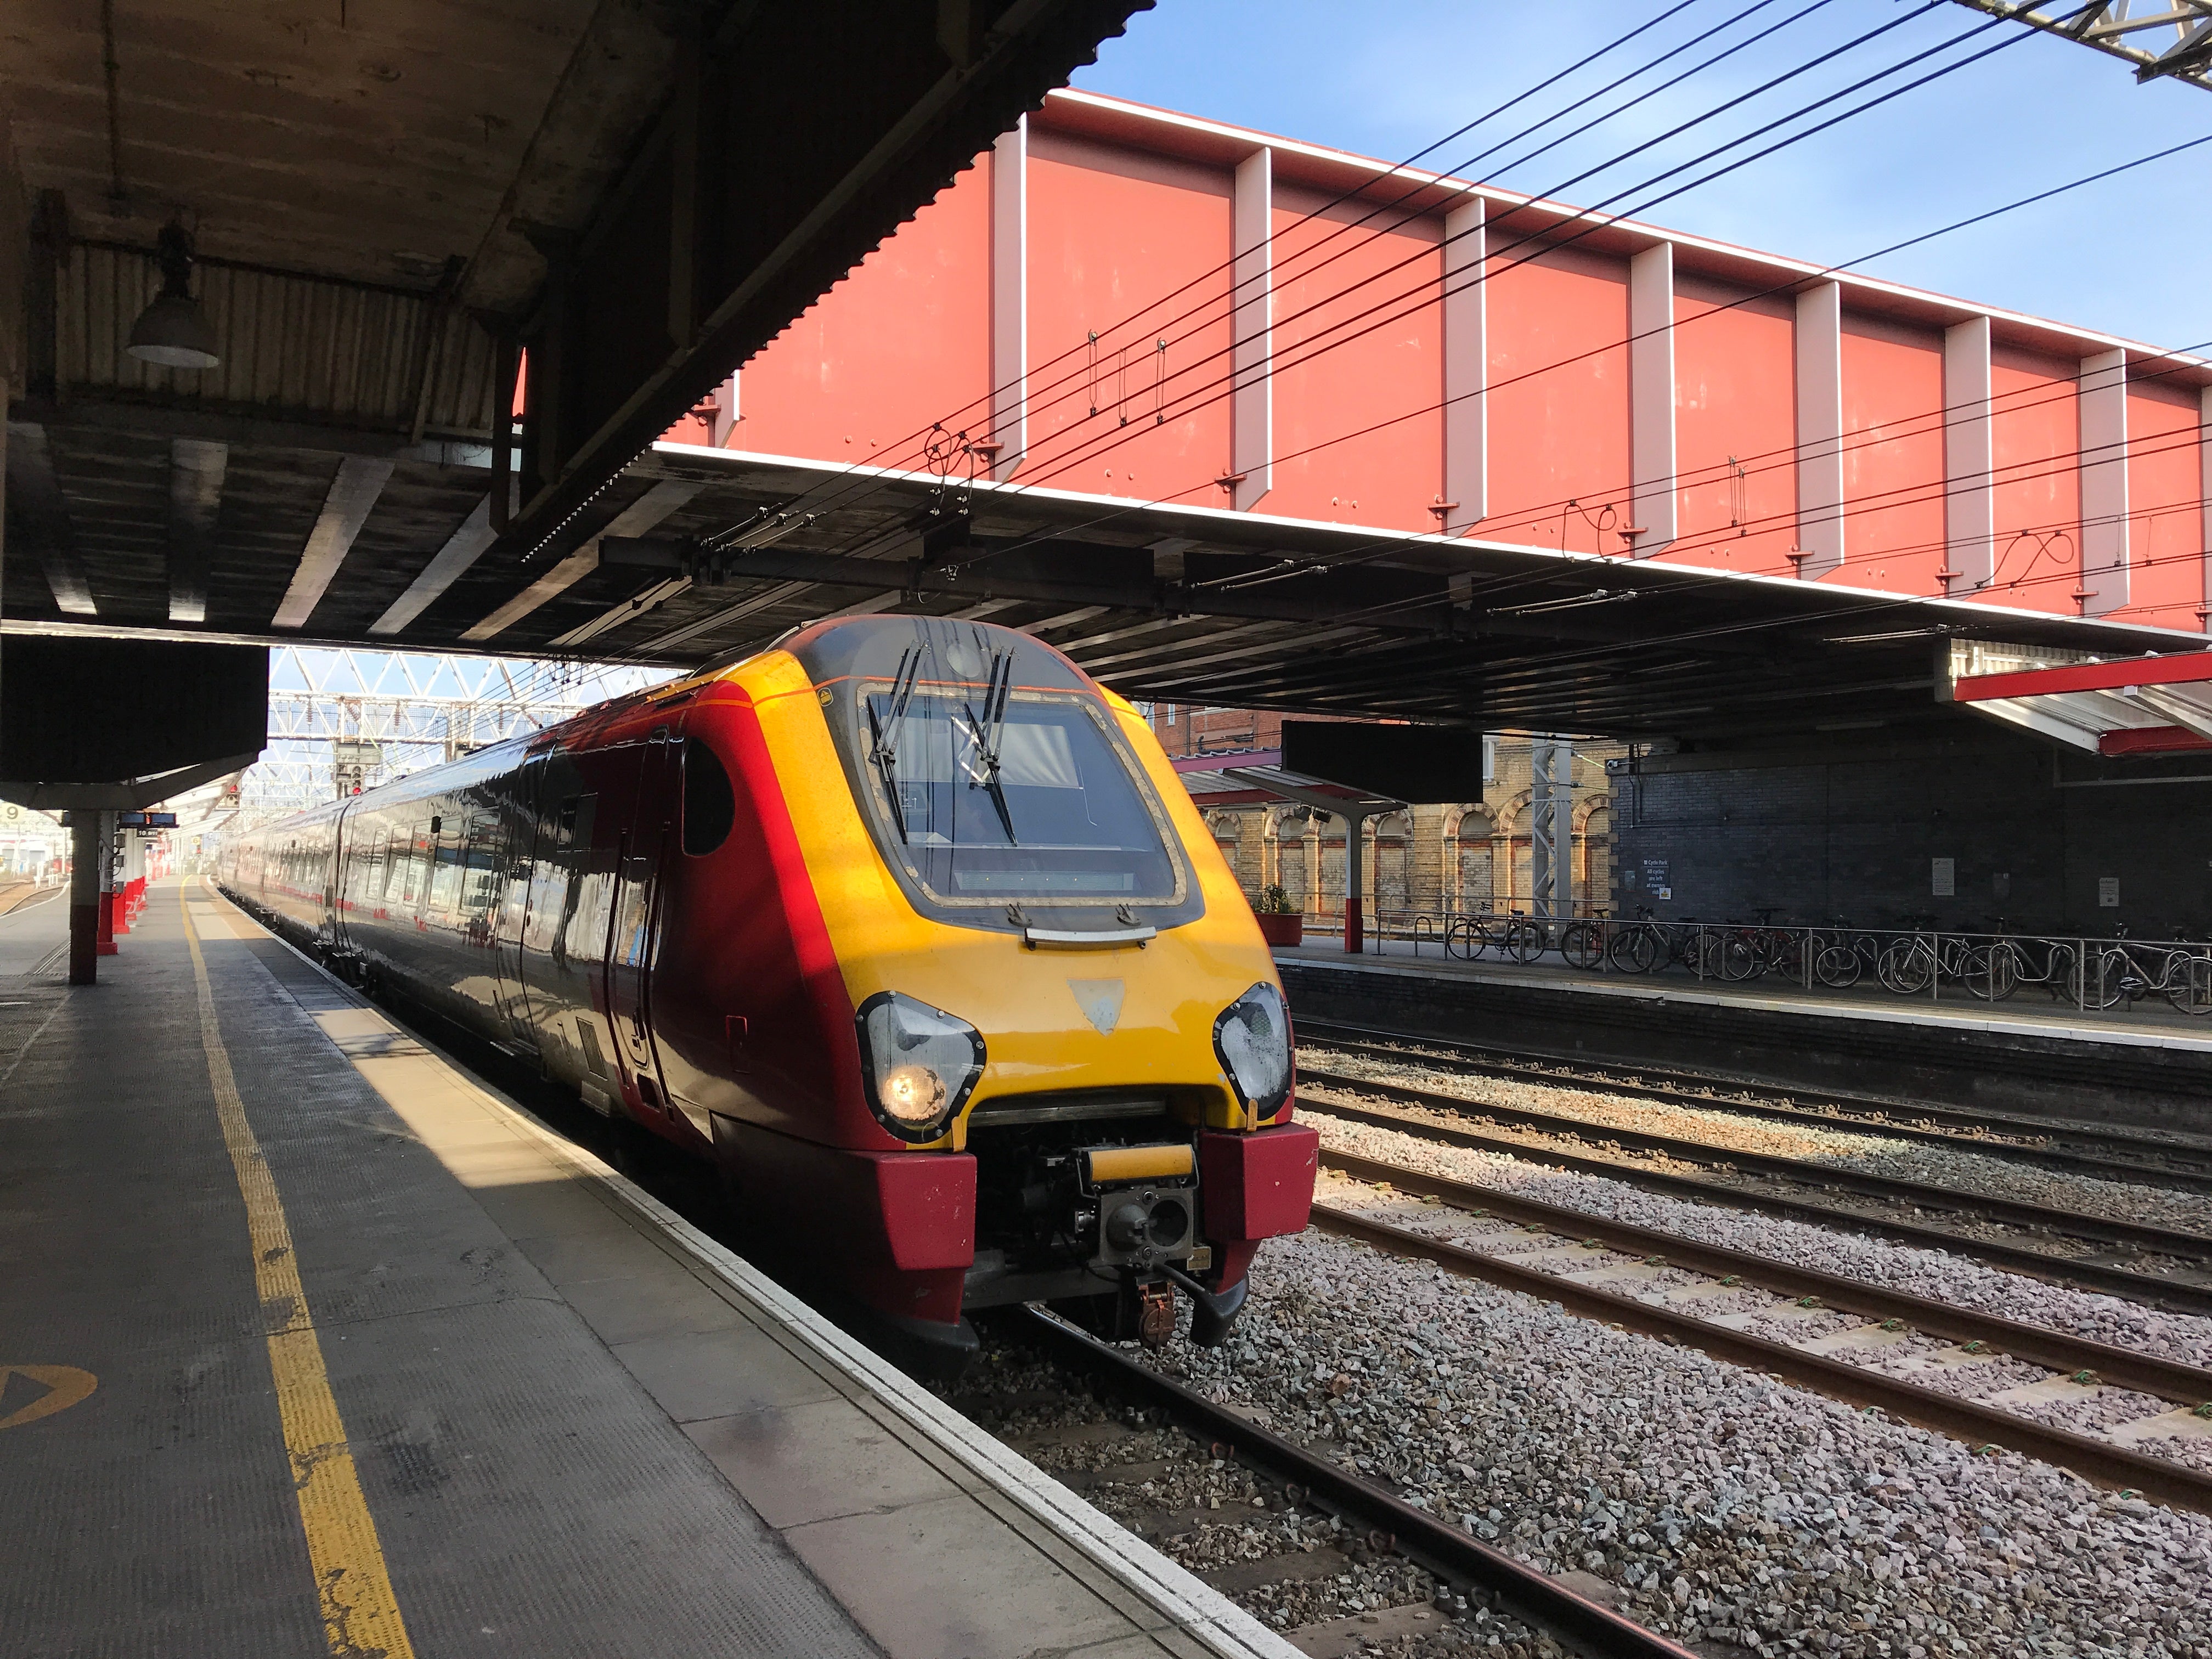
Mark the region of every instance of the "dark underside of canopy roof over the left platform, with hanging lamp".
POLYGON ((18 0, 9 619, 436 644, 1144 2, 18 0), (212 367, 124 349, 173 219, 212 367))

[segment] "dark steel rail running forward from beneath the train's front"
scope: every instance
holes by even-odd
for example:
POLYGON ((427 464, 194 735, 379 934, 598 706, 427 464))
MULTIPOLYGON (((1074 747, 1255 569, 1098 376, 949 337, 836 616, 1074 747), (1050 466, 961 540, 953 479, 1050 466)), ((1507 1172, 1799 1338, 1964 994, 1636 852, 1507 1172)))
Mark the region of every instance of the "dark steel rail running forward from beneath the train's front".
POLYGON ((1117 1354, 1055 1314, 1042 1307, 1029 1307, 1026 1312, 1031 1318, 1029 1329, 1037 1332, 1073 1369, 1099 1376, 1121 1394, 1159 1407, 1186 1425, 1194 1425, 1208 1440, 1234 1447, 1243 1458, 1279 1480, 1298 1484, 1307 1495, 1389 1533, 1411 1559, 1438 1577, 1480 1584, 1500 1595, 1513 1613, 1551 1626, 1555 1635, 1568 1635, 1586 1644, 1593 1655, 1692 1659, 1688 1648, 1668 1641, 1657 1630, 1646 1630, 1613 1608, 1575 1595, 1575 1590, 1557 1579, 1537 1573, 1524 1562, 1515 1562, 1504 1551, 1491 1548, 1425 1509, 1416 1509, 1321 1453, 1307 1451, 1296 1440, 1279 1436, 1274 1429, 1263 1429, 1250 1418, 1241 1418, 1228 1407, 1201 1398, 1181 1383, 1117 1354))

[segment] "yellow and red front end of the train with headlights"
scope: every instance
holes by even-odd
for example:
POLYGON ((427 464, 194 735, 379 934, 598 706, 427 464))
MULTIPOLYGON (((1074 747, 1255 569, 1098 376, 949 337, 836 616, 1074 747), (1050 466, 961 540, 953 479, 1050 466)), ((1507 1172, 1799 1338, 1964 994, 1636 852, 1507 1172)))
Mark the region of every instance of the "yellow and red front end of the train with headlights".
POLYGON ((1316 1137, 1250 907, 1137 714, 1026 635, 865 617, 701 684, 684 730, 745 834, 684 860, 655 1031, 750 1228, 945 1358, 1015 1301, 1164 1340, 1181 1292, 1219 1340, 1259 1241, 1305 1228, 1316 1137))

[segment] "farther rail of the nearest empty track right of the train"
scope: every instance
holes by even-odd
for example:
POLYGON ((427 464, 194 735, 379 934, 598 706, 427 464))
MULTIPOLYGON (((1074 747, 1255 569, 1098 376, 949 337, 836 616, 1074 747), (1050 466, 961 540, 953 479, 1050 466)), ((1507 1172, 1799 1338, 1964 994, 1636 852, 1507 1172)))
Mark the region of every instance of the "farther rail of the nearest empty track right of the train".
POLYGON ((2199 1365, 2163 1360, 2154 1354, 2135 1354, 2086 1336, 2070 1336, 2068 1332, 2051 1329, 2048 1325, 2024 1325, 2013 1318, 2000 1318, 1997 1314, 1978 1314, 1971 1307, 1940 1303, 1929 1296, 1913 1296, 1911 1292, 1889 1290, 1885 1285, 1869 1285, 1863 1279, 1847 1279, 1843 1274, 1820 1272, 1818 1267, 1796 1267, 1787 1261, 1761 1256, 1752 1250, 1730 1250, 1728 1245, 1705 1243, 1703 1239, 1692 1239, 1683 1232, 1663 1232, 1659 1228, 1639 1228, 1630 1221, 1610 1221, 1584 1210, 1568 1210, 1559 1203, 1524 1199, 1517 1192, 1500 1192, 1498 1188, 1473 1181, 1447 1181, 1440 1175, 1425 1175, 1422 1170, 1409 1170, 1402 1164, 1383 1164, 1369 1157, 1354 1157, 1352 1152, 1332 1152, 1329 1148, 1321 1148, 1321 1168, 1336 1170, 1354 1181, 1371 1181, 1378 1186, 1391 1186, 1398 1192, 1436 1197, 1455 1210, 1471 1214, 1528 1221, 1562 1237, 1628 1250, 1646 1261, 1663 1256, 1668 1267, 1690 1267, 1694 1272, 1712 1274, 1714 1279, 1741 1279, 1745 1285, 1772 1290, 1778 1296, 1812 1296, 1823 1307, 1836 1307, 1838 1312, 1863 1314, 1867 1318, 1905 1321, 1913 1329, 1922 1329, 1933 1336, 1949 1336, 1955 1343, 1986 1343, 2002 1354, 2031 1360, 2033 1365, 2044 1365, 2053 1371, 2075 1376, 2081 1371, 2095 1371, 2099 1383, 2154 1394, 2163 1400, 2181 1405, 2203 1405, 2212 1400, 2212 1371, 2199 1365))

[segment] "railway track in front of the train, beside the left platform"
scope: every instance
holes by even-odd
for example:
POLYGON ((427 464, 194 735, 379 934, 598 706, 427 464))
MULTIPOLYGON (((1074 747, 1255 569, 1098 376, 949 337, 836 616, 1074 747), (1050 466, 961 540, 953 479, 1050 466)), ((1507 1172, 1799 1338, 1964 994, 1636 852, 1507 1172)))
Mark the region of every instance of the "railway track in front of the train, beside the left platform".
MULTIPOLYGON (((1548 1637, 1575 1655, 1628 1659, 1690 1659, 1688 1650, 1621 1617, 1573 1584, 1537 1573, 1504 1551, 1482 1544, 1385 1486, 1356 1475, 1296 1440, 1217 1405, 1181 1383, 1086 1336, 1040 1310, 993 1321, 991 1340, 1013 1340, 1046 1356, 1057 1374, 1102 1398, 1135 1407, 1135 1416, 1075 1425, 1024 1427, 1022 1407, 1060 1407, 1055 1391, 1013 1396, 951 1391, 951 1402, 1006 1440, 1015 1451, 1051 1467, 1055 1453, 1079 1447, 1091 1467, 1051 1469, 1062 1482, 1124 1511, 1124 1524, 1175 1551, 1206 1528, 1265 1524, 1281 1548, 1259 1559, 1194 1566, 1214 1588, 1265 1606, 1296 1586, 1336 1584, 1347 1577, 1394 1582, 1411 1599, 1394 1606, 1316 1619, 1285 1630, 1310 1655, 1347 1655, 1365 1644, 1400 1637, 1464 1637, 1522 1641, 1548 1637), (998 1422, 993 1422, 998 1420, 998 1422), (1179 1433, 1177 1433, 1179 1431, 1179 1433), (1166 1453, 1166 1455, 1164 1455, 1166 1453), (1115 1462, 1121 1458, 1119 1462, 1115 1462), (1159 1509, 1155 1489, 1183 1491, 1190 1473, 1230 1471, 1230 1493, 1201 1506, 1159 1509), (1183 1475, 1179 1480, 1177 1475, 1183 1475), (1515 1628, 1522 1626, 1522 1628, 1515 1628)), ((1172 1500, 1170 1500, 1172 1502, 1172 1500)), ((1203 1559, 1203 1553, 1199 1553, 1203 1559)), ((1601 1590, 1599 1582, 1588 1588, 1601 1590)), ((1537 1646, 1537 1652, 1544 1648, 1537 1646)))

